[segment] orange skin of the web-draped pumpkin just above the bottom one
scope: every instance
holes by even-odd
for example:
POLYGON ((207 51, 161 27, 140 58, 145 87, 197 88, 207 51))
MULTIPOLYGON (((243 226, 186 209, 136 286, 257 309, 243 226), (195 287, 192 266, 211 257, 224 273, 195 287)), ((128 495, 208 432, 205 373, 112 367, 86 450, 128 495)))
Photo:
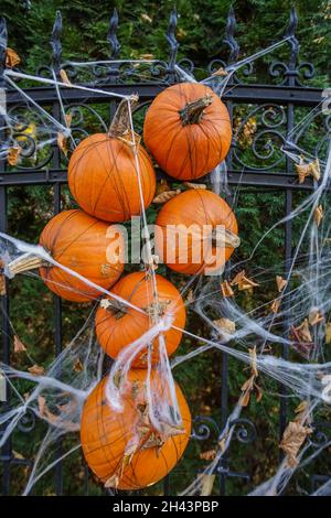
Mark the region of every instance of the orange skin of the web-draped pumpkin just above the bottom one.
MULTIPOLYGON (((167 304, 166 314, 174 315, 173 324, 184 328, 186 312, 183 300, 178 289, 163 277, 157 274, 159 302, 170 301, 167 304)), ((145 272, 134 272, 122 277, 113 288, 111 292, 128 300, 131 304, 146 309, 152 301, 153 290, 151 279, 147 279, 145 272)), ((127 313, 116 319, 109 309, 99 307, 95 319, 96 335, 99 344, 108 356, 116 358, 118 353, 135 339, 139 338, 150 327, 150 320, 138 311, 127 309, 127 313)), ((182 333, 170 328, 164 333, 167 352, 170 356, 178 348, 182 333)), ((158 339, 153 342, 153 363, 158 359, 158 339)), ((134 361, 134 367, 147 366, 145 349, 134 361)))

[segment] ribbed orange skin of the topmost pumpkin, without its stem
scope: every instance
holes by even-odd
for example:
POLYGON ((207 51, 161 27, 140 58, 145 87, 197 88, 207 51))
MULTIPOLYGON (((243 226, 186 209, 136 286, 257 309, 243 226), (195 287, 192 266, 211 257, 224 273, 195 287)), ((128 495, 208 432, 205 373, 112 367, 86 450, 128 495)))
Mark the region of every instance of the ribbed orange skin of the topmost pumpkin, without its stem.
POLYGON ((143 123, 143 141, 160 168, 179 180, 194 180, 226 157, 232 139, 228 111, 207 86, 180 83, 159 94, 143 123), (183 126, 179 110, 205 95, 212 104, 199 123, 183 126))

